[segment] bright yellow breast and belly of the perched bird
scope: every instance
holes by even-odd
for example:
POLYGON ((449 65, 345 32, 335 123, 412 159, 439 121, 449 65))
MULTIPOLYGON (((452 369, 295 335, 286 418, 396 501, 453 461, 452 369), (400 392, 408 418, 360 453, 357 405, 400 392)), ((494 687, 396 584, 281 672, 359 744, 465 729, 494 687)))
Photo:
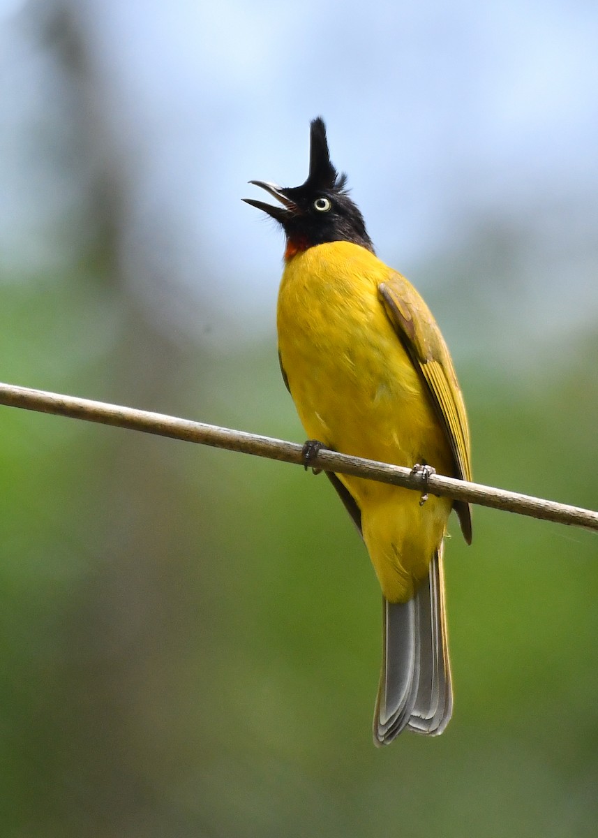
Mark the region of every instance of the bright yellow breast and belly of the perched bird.
MULTIPOLYGON (((278 342, 307 437, 337 451, 451 473, 445 432, 384 308, 389 268, 349 242, 319 245, 286 265, 278 342)), ((391 602, 413 596, 446 529, 451 502, 338 475, 357 501, 363 539, 391 602)))

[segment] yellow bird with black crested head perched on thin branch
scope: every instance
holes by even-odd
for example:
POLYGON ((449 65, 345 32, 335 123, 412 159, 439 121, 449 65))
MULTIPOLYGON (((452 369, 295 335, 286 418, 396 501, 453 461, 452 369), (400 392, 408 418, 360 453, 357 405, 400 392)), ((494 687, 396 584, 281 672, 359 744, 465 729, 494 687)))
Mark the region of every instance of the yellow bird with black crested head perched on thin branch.
MULTIPOLYGON (((347 180, 331 162, 318 116, 305 183, 251 180, 278 203, 243 199, 285 234, 278 355, 309 437, 306 468, 326 447, 424 477, 436 471, 471 480, 467 413, 451 354, 415 287, 376 256, 347 180)), ((404 730, 438 735, 452 714, 446 525, 454 509, 470 544, 471 508, 365 478, 327 476, 363 537, 383 594, 374 744, 389 744, 404 730)))

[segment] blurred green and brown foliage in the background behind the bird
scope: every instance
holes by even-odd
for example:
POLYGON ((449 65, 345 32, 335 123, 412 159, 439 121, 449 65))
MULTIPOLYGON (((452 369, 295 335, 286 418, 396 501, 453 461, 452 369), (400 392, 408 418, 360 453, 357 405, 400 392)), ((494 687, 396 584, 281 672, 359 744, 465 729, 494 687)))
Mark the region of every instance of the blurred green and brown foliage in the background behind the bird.
MULTIPOLYGON (((66 43, 76 105, 94 87, 66 43)), ((50 228, 65 267, 3 272, 3 380, 302 440, 273 333, 208 349, 161 318, 155 277, 127 279, 131 251, 159 244, 126 251, 126 160, 94 157, 75 105, 87 164, 61 158, 57 177, 79 178, 79 204, 50 228)), ((595 334, 526 348, 508 316, 524 237, 474 231, 413 278, 455 352, 475 477, 595 509, 595 334)), ((198 272, 200 292, 218 281, 198 272)), ((0 422, 2 835, 595 834, 595 534, 477 509, 467 548, 452 522, 455 716, 379 751, 379 588, 325 478, 6 407, 0 422)))

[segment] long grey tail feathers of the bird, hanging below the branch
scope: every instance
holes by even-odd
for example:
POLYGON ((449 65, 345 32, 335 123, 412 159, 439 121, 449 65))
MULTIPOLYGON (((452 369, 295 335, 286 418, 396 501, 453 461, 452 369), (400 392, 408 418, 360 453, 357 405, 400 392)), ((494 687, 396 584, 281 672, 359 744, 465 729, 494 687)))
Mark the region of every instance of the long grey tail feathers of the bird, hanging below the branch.
POLYGON ((405 727, 438 736, 451 719, 451 664, 446 639, 443 545, 427 582, 407 603, 384 599, 382 672, 374 742, 388 745, 405 727))

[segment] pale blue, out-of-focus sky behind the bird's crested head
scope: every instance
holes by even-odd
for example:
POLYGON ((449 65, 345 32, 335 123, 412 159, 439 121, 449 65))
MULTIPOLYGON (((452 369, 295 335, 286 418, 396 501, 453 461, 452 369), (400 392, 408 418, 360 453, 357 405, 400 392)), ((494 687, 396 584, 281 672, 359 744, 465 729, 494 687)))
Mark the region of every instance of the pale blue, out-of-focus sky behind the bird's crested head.
MULTIPOLYGON (((64 156, 76 115, 51 55, 23 25, 32 9, 43 15, 43 4, 0 0, 0 269, 3 259, 14 268, 64 258, 48 219, 68 213, 86 184, 85 163, 75 181, 35 158, 35 128, 51 122, 64 156)), ((524 307, 546 306, 539 321, 563 318, 558 287, 545 293, 556 277, 579 293, 567 323, 598 313, 595 4, 78 0, 70 9, 88 51, 96 151, 126 162, 123 263, 140 288, 157 269, 168 275, 160 296, 178 299, 183 320, 209 286, 217 321, 235 316, 234 298, 239 334, 269 328, 281 234, 240 199, 255 196, 253 178, 302 183, 318 114, 379 256, 416 284, 421 266, 495 220, 525 231, 517 284, 524 307), (139 256, 140 242, 158 237, 161 248, 139 256)))

